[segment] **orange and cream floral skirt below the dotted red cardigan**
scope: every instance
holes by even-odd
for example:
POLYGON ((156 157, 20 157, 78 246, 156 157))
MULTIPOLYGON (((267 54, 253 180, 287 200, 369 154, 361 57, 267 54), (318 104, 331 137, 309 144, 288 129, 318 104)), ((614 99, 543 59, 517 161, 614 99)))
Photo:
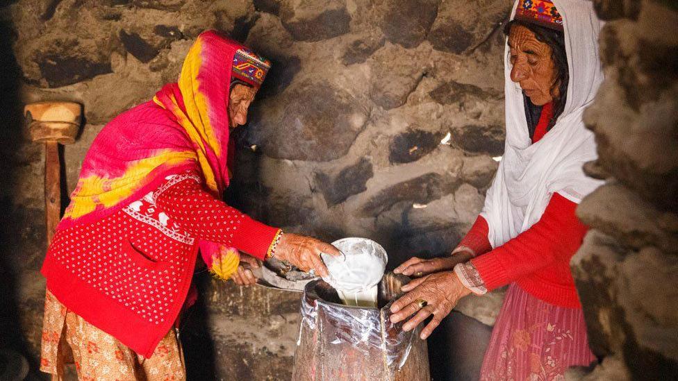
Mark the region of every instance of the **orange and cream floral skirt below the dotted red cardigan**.
POLYGON ((173 328, 144 358, 61 304, 47 291, 42 323, 40 371, 63 379, 64 364, 75 364, 78 380, 185 380, 181 345, 173 328))

